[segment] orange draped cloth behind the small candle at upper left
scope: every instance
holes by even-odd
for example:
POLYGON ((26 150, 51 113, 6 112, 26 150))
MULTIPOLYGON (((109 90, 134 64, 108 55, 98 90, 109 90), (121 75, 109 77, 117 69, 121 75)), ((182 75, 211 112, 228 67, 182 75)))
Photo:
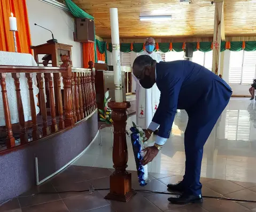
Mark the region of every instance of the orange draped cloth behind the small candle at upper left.
POLYGON ((9 22, 11 12, 17 18, 18 31, 15 32, 17 51, 32 54, 25 0, 0 0, 0 51, 14 52, 14 41, 9 22))

